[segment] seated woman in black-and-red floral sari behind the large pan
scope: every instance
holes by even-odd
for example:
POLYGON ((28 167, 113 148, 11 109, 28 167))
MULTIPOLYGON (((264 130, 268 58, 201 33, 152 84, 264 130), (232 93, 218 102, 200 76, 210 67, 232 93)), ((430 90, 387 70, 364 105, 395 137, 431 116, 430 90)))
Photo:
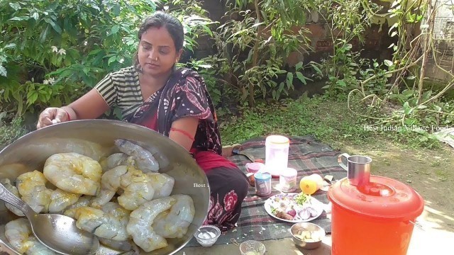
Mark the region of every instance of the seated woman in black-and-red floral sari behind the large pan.
POLYGON ((238 220, 248 181, 221 156, 216 113, 204 79, 190 69, 175 69, 182 55, 183 26, 167 13, 145 19, 138 31, 138 53, 132 67, 107 74, 68 106, 46 108, 37 128, 69 120, 98 118, 119 106, 123 120, 170 137, 190 152, 208 177, 211 198, 204 224, 223 232, 238 220))

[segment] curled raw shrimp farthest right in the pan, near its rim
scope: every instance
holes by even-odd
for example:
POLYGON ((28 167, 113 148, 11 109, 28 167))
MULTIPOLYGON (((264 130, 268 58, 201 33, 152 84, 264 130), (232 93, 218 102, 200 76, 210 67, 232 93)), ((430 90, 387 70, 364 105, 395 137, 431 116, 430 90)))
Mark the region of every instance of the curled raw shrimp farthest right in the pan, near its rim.
POLYGON ((172 205, 170 212, 161 212, 153 222, 156 234, 165 238, 180 238, 194 220, 194 201, 187 195, 173 195, 177 202, 172 205))

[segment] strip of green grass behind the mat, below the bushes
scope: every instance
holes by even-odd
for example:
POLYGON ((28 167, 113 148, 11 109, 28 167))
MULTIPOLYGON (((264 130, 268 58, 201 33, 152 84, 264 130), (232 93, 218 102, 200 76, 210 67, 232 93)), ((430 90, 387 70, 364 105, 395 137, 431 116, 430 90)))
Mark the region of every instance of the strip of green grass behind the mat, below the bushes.
MULTIPOLYGON (((369 119, 354 115, 347 108, 345 98, 315 96, 285 100, 280 103, 258 103, 255 111, 244 109, 240 116, 223 115, 221 136, 223 145, 244 142, 258 136, 314 135, 317 140, 334 148, 343 144, 376 145, 379 140, 388 140, 407 149, 419 147, 438 148, 440 142, 431 139, 428 133, 413 130, 367 129, 369 119)), ((379 125, 380 127, 380 125, 379 125)), ((376 145, 380 147, 380 144, 376 145)))

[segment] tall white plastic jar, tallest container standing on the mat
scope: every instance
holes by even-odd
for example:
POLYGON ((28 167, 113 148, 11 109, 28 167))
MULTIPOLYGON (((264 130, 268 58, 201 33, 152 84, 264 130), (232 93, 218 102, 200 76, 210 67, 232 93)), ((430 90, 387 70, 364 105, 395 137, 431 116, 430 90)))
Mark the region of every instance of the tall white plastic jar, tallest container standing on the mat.
POLYGON ((265 140, 265 171, 273 177, 279 177, 287 169, 289 146, 289 138, 282 135, 270 135, 265 140))

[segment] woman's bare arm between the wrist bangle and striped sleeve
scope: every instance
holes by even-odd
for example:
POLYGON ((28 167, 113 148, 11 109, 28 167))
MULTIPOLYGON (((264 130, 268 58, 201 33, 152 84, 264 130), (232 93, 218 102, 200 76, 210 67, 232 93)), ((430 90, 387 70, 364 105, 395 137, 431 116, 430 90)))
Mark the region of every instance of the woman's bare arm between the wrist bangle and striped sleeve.
POLYGON ((81 98, 70 103, 69 106, 62 108, 70 114, 71 120, 84 120, 98 118, 109 110, 109 105, 96 89, 92 89, 81 98))

